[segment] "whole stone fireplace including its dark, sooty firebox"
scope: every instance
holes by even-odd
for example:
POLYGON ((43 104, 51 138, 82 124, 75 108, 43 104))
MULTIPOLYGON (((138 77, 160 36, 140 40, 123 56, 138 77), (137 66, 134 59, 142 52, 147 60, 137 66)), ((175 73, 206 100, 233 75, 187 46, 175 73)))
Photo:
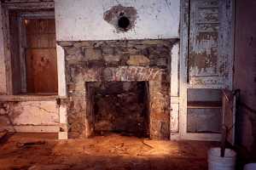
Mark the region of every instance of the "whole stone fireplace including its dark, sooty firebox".
POLYGON ((65 50, 69 138, 117 132, 170 139, 170 63, 175 42, 59 42, 65 50))

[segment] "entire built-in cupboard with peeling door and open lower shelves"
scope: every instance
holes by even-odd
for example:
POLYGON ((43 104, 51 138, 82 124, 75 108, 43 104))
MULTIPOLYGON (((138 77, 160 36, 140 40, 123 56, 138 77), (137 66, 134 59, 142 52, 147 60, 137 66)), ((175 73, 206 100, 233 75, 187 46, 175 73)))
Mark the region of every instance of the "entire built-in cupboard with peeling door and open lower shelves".
POLYGON ((182 139, 221 139, 220 89, 232 89, 233 3, 183 0, 181 80, 187 83, 181 85, 182 139))

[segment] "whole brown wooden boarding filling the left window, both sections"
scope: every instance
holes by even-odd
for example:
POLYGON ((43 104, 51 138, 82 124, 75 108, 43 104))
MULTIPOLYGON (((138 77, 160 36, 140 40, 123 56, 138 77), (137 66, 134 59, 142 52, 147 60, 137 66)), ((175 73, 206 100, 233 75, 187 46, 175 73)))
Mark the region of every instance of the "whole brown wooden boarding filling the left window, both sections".
POLYGON ((24 20, 26 26, 27 93, 55 93, 58 89, 55 20, 24 20))

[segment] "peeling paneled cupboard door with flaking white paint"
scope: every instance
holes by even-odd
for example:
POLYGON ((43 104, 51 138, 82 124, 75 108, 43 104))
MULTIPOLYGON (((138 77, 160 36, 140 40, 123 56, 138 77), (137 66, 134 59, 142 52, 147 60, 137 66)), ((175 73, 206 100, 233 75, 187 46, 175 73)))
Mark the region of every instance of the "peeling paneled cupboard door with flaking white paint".
POLYGON ((220 57, 222 1, 191 0, 189 17, 189 84, 224 85, 225 58, 220 57))

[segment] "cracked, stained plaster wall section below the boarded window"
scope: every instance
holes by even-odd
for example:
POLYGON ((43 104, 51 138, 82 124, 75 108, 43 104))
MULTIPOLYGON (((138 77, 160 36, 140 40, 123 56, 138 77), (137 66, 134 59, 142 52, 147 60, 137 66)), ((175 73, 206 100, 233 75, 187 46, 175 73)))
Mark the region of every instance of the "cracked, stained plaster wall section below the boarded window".
MULTIPOLYGON (((18 131, 20 126, 57 126, 59 107, 53 101, 14 101, 0 103, 0 130, 18 131)), ((30 132, 30 128, 23 128, 30 132)), ((46 130, 47 131, 47 130, 46 130)))

